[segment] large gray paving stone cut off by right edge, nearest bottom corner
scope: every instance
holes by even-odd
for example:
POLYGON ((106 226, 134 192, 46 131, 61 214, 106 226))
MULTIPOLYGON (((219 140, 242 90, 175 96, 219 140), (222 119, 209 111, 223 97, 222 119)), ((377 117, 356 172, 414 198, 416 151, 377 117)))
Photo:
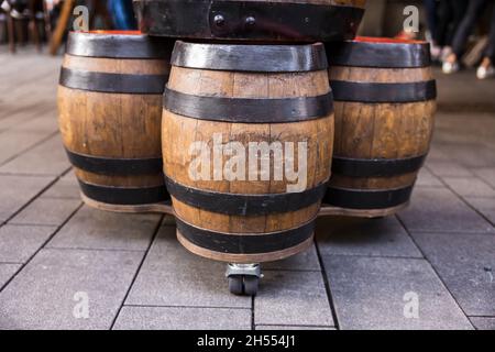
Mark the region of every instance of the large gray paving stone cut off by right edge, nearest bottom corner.
POLYGON ((495 317, 495 237, 415 233, 449 290, 468 316, 495 317))

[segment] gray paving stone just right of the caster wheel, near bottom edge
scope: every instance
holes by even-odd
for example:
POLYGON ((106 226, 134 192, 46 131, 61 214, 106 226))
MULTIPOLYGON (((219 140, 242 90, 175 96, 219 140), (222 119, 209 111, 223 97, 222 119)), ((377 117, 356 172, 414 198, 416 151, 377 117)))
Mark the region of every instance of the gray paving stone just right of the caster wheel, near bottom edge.
POLYGON ((321 273, 264 272, 254 300, 256 324, 333 327, 321 273))

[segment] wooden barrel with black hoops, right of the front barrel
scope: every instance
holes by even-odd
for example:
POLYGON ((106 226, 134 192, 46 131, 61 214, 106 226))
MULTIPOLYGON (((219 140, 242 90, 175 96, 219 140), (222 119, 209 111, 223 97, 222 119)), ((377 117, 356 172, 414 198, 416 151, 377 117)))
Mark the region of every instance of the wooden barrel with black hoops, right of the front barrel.
POLYGON ((336 144, 324 202, 356 216, 393 213, 409 202, 432 138, 429 44, 359 37, 327 54, 336 144))

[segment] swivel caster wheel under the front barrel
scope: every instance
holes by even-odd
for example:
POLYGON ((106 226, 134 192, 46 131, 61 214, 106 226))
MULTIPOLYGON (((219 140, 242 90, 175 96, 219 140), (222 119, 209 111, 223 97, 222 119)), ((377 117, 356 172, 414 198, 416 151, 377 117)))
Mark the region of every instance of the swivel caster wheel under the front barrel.
POLYGON ((256 296, 260 287, 260 264, 229 264, 226 276, 229 279, 229 290, 238 296, 256 296))

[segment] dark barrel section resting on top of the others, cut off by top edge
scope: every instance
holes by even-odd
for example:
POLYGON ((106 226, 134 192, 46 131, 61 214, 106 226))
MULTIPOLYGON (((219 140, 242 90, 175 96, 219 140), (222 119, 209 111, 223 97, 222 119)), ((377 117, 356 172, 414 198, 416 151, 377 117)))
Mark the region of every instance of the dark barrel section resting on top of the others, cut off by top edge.
POLYGON ((306 42, 354 38, 366 0, 135 0, 141 31, 179 38, 306 42))

